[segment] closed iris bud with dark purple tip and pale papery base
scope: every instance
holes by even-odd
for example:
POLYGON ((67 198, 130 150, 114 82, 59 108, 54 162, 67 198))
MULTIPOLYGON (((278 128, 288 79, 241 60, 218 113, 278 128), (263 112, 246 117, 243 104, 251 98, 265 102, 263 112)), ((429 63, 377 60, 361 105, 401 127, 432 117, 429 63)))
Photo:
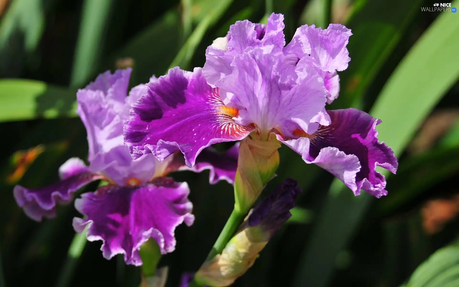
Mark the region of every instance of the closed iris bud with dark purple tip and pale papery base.
POLYGON ((271 236, 290 218, 289 210, 295 207, 300 192, 295 180, 287 179, 280 184, 251 210, 223 252, 204 262, 195 280, 214 287, 231 285, 253 265, 271 236))

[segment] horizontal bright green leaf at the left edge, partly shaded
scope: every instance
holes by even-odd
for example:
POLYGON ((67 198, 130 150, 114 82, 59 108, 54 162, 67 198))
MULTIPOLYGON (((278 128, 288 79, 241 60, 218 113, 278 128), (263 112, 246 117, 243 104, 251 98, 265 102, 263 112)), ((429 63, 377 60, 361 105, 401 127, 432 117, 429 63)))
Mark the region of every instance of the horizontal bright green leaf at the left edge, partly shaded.
POLYGON ((26 79, 0 79, 0 122, 76 116, 76 90, 26 79))

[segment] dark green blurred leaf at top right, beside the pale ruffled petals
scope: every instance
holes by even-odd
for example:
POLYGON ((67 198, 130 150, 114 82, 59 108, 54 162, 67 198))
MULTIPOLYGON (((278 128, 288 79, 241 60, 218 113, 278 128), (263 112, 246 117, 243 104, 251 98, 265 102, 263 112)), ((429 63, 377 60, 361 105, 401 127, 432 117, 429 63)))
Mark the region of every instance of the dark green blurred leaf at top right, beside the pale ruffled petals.
POLYGON ((341 78, 340 96, 332 109, 362 106, 362 98, 382 65, 419 11, 421 0, 377 0, 354 6, 347 28, 352 29, 347 49, 351 62, 341 78), (397 9, 394 9, 397 7, 397 9))

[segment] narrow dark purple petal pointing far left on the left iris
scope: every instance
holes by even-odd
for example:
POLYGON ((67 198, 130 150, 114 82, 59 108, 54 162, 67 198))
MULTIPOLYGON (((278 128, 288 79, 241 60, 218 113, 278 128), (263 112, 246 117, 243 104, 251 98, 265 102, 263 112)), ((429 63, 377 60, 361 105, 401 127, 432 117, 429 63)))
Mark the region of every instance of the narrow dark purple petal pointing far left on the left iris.
POLYGON ((41 221, 43 217, 51 218, 56 215, 56 205, 69 203, 73 192, 91 181, 100 180, 103 176, 90 171, 73 174, 64 180, 50 186, 31 189, 15 186, 13 193, 19 205, 28 217, 41 221))

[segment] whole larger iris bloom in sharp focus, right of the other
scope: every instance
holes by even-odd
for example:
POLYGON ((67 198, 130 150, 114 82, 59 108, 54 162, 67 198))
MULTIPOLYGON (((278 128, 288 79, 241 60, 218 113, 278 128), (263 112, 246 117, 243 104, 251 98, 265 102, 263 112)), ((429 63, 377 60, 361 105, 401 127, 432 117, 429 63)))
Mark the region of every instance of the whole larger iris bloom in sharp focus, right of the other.
POLYGON ((153 153, 163 161, 180 151, 192 167, 214 143, 274 134, 355 195, 360 189, 386 195, 386 180, 375 168, 395 173, 398 163, 376 137, 381 120, 353 108, 325 110, 338 96, 336 71, 350 61, 351 31, 303 25, 285 45, 283 18, 273 13, 267 25, 238 21, 207 48, 203 68, 172 68, 148 83, 124 127, 133 158, 153 153))

